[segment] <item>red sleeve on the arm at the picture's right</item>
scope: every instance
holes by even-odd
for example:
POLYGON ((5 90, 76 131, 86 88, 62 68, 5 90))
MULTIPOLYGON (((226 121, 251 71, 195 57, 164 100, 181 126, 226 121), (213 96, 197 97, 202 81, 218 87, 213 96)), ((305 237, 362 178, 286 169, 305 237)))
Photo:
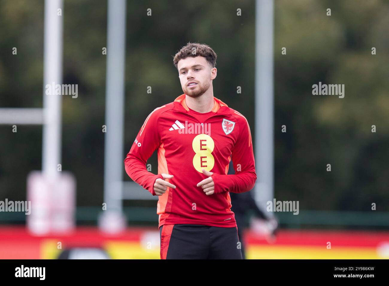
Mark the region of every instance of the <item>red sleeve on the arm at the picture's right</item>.
POLYGON ((231 193, 250 191, 254 188, 257 179, 249 124, 244 116, 237 116, 237 121, 239 136, 231 154, 231 159, 235 165, 235 175, 212 174, 211 177, 215 184, 214 193, 216 194, 224 191, 231 193))

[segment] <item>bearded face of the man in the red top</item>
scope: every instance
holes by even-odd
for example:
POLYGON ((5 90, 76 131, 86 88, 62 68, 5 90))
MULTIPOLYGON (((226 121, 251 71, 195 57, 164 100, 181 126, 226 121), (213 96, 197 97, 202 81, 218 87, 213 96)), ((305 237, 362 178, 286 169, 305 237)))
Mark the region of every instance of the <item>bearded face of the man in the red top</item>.
POLYGON ((189 56, 179 60, 177 68, 182 91, 190 97, 203 95, 216 78, 217 69, 211 67, 203 56, 189 56), (189 85, 190 82, 195 84, 189 85))

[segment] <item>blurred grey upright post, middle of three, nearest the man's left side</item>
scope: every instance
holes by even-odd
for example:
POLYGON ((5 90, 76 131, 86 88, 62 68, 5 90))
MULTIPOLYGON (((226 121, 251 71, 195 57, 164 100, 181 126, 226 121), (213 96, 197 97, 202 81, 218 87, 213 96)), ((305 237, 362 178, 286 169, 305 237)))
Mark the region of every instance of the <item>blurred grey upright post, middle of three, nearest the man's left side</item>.
POLYGON ((107 84, 105 95, 104 202, 100 228, 119 232, 125 226, 122 211, 124 168, 124 63, 126 49, 126 1, 108 0, 107 84))

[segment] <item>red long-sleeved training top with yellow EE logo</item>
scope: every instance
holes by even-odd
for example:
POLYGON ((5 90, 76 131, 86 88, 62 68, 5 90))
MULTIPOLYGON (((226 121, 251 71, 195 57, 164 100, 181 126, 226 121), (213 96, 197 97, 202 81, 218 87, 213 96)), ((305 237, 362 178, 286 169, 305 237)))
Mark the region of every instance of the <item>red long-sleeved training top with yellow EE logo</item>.
POLYGON ((196 224, 235 227, 230 193, 243 193, 257 179, 250 127, 247 119, 214 97, 212 111, 189 109, 186 95, 157 107, 147 116, 124 160, 127 174, 152 195, 162 173, 176 188, 159 196, 157 214, 161 225, 196 224), (148 172, 147 160, 158 148, 158 175, 148 172), (234 163, 235 175, 227 175, 234 163), (196 185, 211 175, 215 191, 206 195, 196 185))

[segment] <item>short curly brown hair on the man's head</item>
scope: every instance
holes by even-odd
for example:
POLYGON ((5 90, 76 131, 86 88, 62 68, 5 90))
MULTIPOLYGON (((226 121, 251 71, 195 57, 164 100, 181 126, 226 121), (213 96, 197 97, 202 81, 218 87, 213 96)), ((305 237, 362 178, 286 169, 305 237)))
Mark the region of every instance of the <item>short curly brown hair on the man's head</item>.
POLYGON ((175 65, 177 70, 178 61, 187 58, 188 56, 191 56, 193 58, 195 58, 196 56, 203 56, 207 59, 211 67, 214 68, 216 66, 216 53, 210 46, 206 44, 189 42, 186 44, 186 46, 182 47, 173 58, 173 64, 175 65))

